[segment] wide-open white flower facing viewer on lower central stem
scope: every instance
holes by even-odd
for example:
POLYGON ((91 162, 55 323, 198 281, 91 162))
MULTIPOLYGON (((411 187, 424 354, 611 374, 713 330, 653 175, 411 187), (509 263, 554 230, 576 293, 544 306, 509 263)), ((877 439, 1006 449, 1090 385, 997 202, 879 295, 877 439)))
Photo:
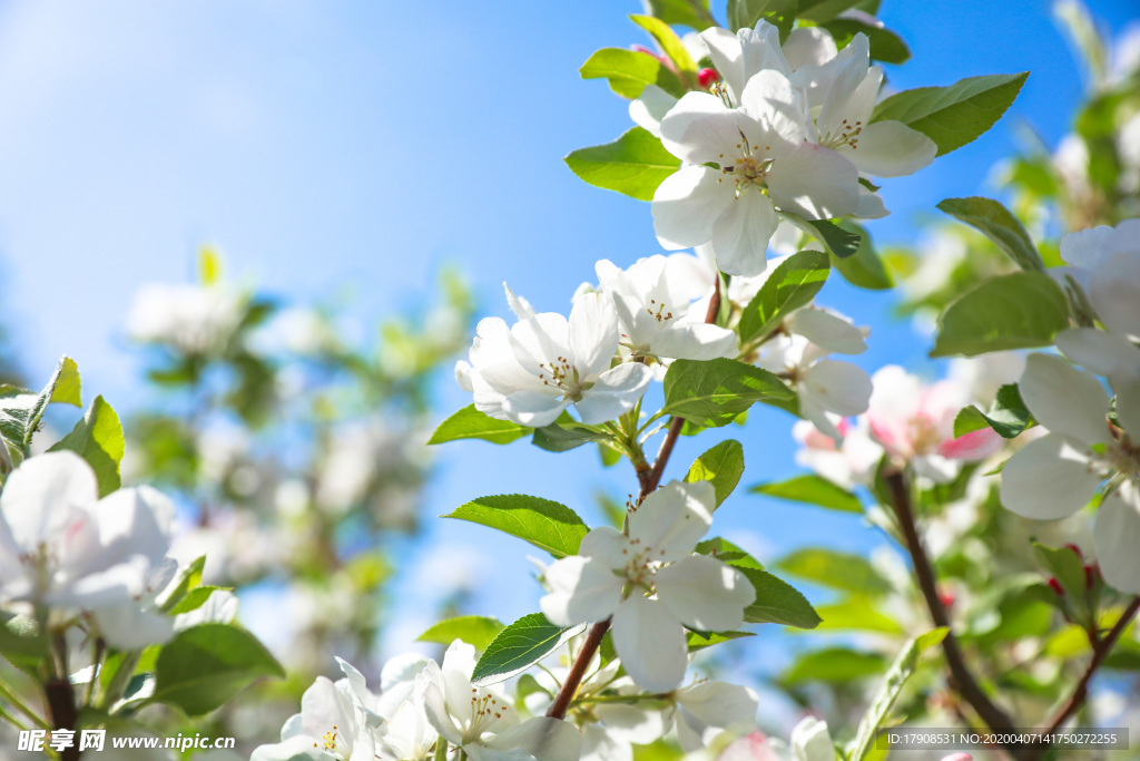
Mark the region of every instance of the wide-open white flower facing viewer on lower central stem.
POLYGON ((708 481, 670 481, 629 513, 628 535, 601 527, 579 554, 551 564, 546 617, 559 625, 612 616, 613 646, 638 686, 667 693, 689 664, 684 626, 732 630, 756 590, 740 570, 693 548, 712 523, 708 481))

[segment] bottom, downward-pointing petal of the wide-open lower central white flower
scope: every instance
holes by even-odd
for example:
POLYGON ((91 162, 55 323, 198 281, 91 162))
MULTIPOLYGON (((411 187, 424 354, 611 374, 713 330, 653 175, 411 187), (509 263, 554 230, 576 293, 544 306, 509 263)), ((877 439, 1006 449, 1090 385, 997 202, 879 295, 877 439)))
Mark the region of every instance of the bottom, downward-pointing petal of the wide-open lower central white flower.
POLYGON ((613 647, 629 677, 650 693, 668 693, 689 666, 685 630, 658 600, 634 594, 613 614, 613 647))

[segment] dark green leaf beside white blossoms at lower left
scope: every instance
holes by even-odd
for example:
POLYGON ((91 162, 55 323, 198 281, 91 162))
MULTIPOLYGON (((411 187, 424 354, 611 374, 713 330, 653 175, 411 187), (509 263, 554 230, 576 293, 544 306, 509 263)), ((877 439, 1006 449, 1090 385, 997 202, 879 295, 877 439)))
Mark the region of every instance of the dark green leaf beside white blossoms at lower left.
POLYGON ((229 624, 199 624, 163 646, 150 701, 199 717, 263 677, 284 678, 285 670, 253 634, 229 624))

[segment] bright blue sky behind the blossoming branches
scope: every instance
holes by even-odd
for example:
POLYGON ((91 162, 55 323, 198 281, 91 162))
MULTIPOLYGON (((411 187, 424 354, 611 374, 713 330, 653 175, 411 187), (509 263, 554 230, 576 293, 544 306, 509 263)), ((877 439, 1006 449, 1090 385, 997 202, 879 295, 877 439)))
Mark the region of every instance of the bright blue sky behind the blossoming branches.
MULTIPOLYGON (((1135 16, 1131 0, 1091 6, 1117 31, 1135 16)), ((561 161, 629 127, 625 103, 577 68, 598 47, 644 43, 625 17, 640 10, 614 0, 9 0, 0 6, 0 319, 23 366, 46 375, 66 353, 89 394, 129 408, 139 379, 121 327, 131 296, 193 277, 203 242, 221 248, 231 275, 286 298, 349 284, 366 322, 417 301, 448 262, 486 314, 506 313, 504 280, 540 309, 565 310, 596 259, 627 266, 660 250, 646 204, 583 184, 561 161)), ((987 192, 1017 120, 1054 144, 1081 84, 1044 1, 886 0, 881 17, 914 54, 888 67, 897 88, 1032 72, 995 130, 886 184, 894 213, 870 229, 903 242, 939 200, 987 192)), ((922 339, 886 316, 889 297, 832 282, 821 300, 872 326, 860 358, 869 370, 923 362, 922 339)), ((467 403, 448 383, 440 396, 441 414, 467 403)), ((767 410, 750 421, 746 485, 795 472, 789 427, 767 410)), ((683 442, 667 477, 716 439, 683 442)), ((585 447, 556 456, 461 443, 438 454, 430 515, 499 492, 589 513, 600 488, 635 488, 628 469, 602 472, 585 447)), ((767 557, 809 541, 853 550, 879 541, 857 518, 742 495, 718 516, 767 557)), ((487 578, 527 568, 520 543, 448 524, 433 523, 420 557, 466 545, 496 559, 487 578)), ((489 582, 477 602, 510 620, 536 600, 537 588, 489 582)))

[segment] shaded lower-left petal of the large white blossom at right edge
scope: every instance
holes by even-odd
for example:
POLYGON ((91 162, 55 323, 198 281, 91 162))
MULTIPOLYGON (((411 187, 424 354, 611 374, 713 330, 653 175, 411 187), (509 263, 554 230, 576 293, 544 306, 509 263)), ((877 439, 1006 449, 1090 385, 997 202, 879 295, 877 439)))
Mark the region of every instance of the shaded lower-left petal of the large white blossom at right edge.
POLYGON ((1102 480, 1065 437, 1034 439, 1001 471, 1001 502, 1025 518, 1066 518, 1089 503, 1102 480))

